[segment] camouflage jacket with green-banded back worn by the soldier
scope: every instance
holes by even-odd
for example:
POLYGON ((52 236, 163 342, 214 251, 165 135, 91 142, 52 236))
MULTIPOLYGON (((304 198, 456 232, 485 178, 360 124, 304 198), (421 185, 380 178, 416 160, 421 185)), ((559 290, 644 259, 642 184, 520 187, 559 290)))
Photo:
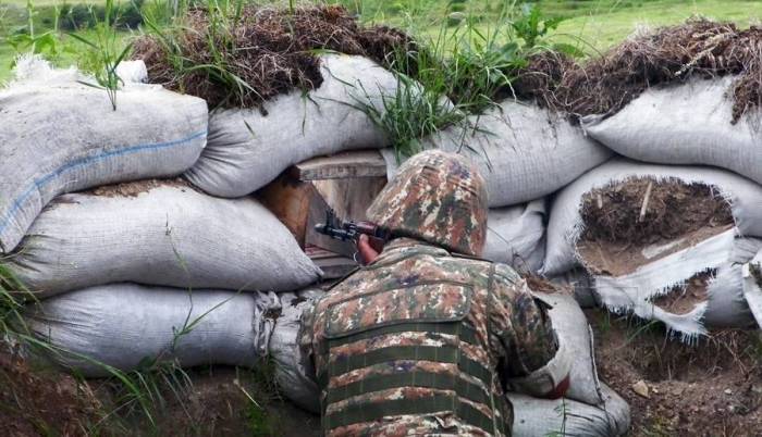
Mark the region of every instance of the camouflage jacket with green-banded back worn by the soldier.
POLYGON ((303 314, 330 436, 511 435, 503 396, 556 353, 511 267, 401 238, 303 314))

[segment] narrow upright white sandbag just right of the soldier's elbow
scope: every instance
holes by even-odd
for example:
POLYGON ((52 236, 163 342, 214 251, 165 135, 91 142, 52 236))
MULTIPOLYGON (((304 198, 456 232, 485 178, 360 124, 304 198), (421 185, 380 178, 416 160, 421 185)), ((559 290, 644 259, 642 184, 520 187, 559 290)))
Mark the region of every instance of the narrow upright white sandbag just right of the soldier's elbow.
POLYGON ((558 342, 566 344, 566 350, 573 353, 570 385, 566 397, 591 405, 601 404, 605 399, 601 395, 601 383, 595 369, 592 329, 585 313, 572 296, 544 292, 533 295, 552 307, 549 315, 558 342))

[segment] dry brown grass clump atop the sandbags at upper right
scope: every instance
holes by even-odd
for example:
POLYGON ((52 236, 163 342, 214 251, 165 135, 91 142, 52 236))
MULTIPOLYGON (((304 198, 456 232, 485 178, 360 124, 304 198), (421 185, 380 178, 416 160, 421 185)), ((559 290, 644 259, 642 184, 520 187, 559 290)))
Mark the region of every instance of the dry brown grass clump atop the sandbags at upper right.
POLYGON ((649 87, 691 76, 739 75, 733 122, 762 103, 762 26, 689 20, 634 36, 579 64, 543 52, 530 59, 514 84, 519 97, 578 118, 614 114, 649 87))

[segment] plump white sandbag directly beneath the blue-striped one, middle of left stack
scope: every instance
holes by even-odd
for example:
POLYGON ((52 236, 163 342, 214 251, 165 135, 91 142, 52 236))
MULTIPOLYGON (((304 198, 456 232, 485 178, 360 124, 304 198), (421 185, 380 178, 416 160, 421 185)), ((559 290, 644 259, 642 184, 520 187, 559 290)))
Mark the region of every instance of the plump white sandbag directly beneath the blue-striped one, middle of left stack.
POLYGON ((38 297, 119 282, 283 291, 320 274, 253 198, 220 199, 176 184, 149 185, 135 197, 61 196, 3 264, 38 297))

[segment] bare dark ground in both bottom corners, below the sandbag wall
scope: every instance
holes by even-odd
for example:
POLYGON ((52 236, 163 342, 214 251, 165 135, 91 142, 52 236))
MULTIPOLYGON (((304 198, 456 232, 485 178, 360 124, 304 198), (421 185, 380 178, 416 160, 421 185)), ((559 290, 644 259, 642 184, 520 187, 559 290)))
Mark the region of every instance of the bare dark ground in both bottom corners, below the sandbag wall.
MULTIPOLYGON (((728 330, 696 346, 664 329, 601 310, 595 332, 601 378, 632 410, 631 436, 762 436, 762 334, 728 330), (648 397, 632 388, 644 384, 648 397)), ((9 436, 319 436, 319 417, 279 398, 267 372, 196 369, 193 387, 151 403, 152 427, 111 382, 30 369, 0 352, 0 429, 9 436), (250 398, 249 398, 250 397, 250 398), (128 413, 130 409, 132 413, 128 413)))

